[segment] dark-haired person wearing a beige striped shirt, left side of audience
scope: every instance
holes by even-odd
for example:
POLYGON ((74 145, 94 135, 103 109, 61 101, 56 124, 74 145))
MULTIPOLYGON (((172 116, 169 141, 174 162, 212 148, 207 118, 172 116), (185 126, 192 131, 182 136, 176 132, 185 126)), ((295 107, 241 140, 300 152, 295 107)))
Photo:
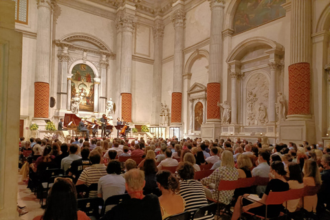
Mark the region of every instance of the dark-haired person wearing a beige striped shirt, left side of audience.
MULTIPOLYGON (((76 185, 85 184, 86 186, 91 186, 91 184, 98 184, 100 177, 107 175, 107 167, 104 164, 100 164, 101 155, 98 151, 89 153, 89 160, 92 165, 83 170, 76 185)), ((89 191, 89 197, 96 197, 97 195, 97 190, 89 191)))

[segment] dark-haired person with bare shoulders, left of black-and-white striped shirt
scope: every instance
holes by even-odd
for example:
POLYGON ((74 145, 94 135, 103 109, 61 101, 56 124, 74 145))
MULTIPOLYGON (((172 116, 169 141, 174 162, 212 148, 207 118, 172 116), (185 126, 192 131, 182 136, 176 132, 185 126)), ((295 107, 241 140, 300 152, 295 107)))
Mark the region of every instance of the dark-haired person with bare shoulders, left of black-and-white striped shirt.
POLYGON ((162 191, 162 196, 158 197, 162 219, 170 215, 184 212, 186 205, 179 191, 179 180, 169 170, 160 170, 157 175, 157 186, 162 191))

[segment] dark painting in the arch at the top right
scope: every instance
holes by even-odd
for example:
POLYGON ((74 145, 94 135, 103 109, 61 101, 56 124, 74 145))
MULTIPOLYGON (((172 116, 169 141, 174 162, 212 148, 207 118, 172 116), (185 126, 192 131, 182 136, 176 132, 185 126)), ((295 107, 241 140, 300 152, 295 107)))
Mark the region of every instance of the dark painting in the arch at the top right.
POLYGON ((241 0, 234 15, 234 32, 240 33, 285 16, 285 0, 241 0))

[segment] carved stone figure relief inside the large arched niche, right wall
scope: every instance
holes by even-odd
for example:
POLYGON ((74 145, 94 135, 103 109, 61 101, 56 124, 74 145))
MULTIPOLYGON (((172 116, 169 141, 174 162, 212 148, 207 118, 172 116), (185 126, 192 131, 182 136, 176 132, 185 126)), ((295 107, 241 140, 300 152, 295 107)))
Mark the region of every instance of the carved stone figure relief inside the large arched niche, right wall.
POLYGON ((268 122, 268 94, 270 83, 262 73, 254 74, 246 85, 245 124, 265 125, 268 122))

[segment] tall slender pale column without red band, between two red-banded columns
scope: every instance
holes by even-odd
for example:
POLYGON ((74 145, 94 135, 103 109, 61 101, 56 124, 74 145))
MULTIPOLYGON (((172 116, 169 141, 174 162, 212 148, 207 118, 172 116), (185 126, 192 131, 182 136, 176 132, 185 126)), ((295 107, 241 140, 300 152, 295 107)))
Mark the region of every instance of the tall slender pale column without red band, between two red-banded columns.
POLYGON ((151 124, 159 125, 160 104, 162 102, 162 57, 164 25, 157 21, 153 26, 153 106, 151 124))

